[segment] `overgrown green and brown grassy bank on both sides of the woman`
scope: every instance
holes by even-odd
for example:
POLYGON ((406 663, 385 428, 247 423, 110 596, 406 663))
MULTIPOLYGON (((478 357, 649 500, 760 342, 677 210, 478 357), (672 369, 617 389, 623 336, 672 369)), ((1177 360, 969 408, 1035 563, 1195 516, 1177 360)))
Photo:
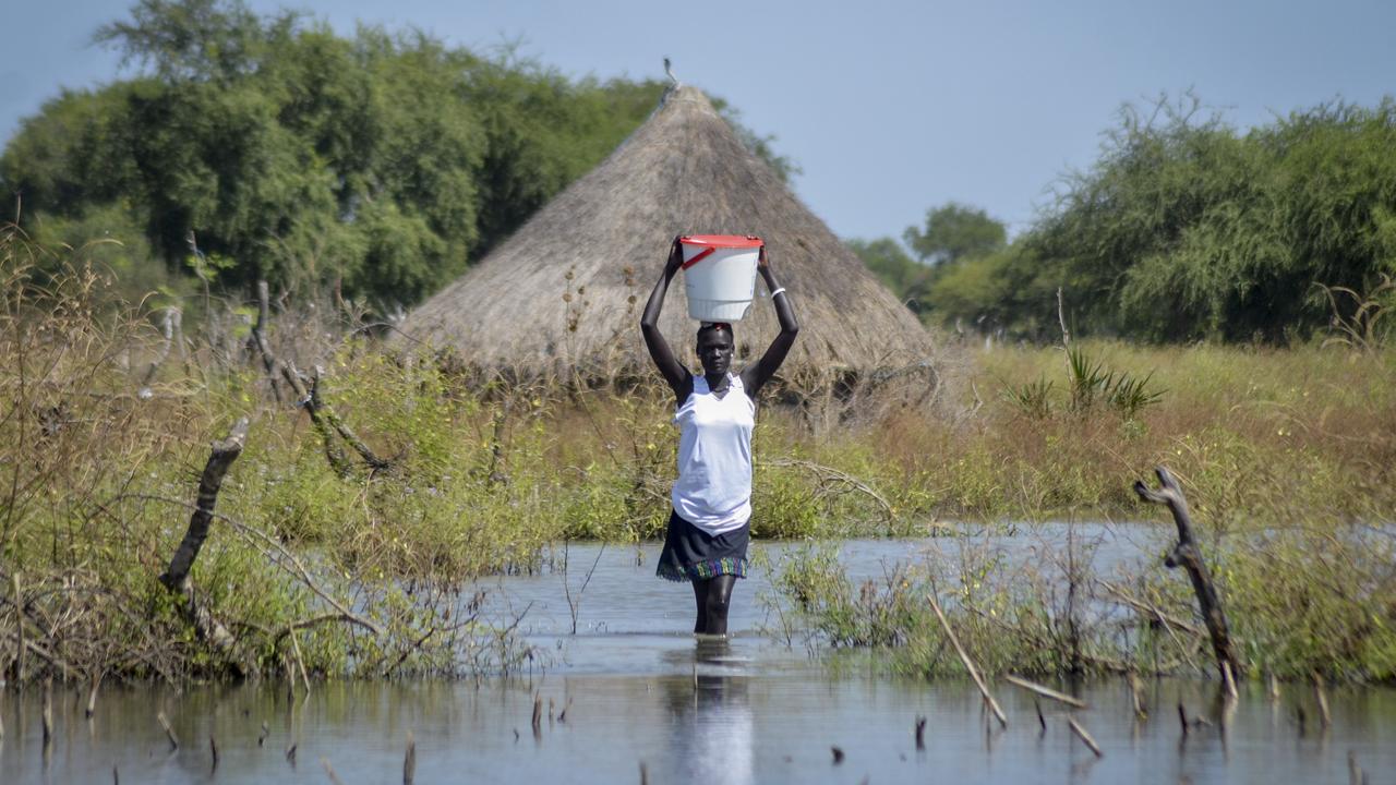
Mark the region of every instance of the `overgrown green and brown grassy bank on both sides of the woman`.
MULTIPOLYGON (((14 230, 0 237, 0 651, 11 676, 507 669, 524 656, 514 620, 482 616, 461 587, 543 568, 547 542, 662 532, 676 439, 656 380, 521 384, 402 359, 332 309, 275 313, 262 352, 237 309, 205 300, 184 314, 183 334, 173 311, 120 305, 81 265, 36 274, 35 257, 49 253, 14 230), (184 536, 209 443, 239 418, 251 422, 246 447, 193 571, 200 606, 236 640, 218 645, 158 577, 184 536)), ((766 401, 755 535, 945 534, 935 521, 962 518, 1160 520, 1128 486, 1164 462, 1188 490, 1227 594, 1255 610, 1238 624, 1262 624, 1244 633, 1254 661, 1389 676, 1379 663, 1396 615, 1390 539, 1362 524, 1389 527, 1396 508, 1393 353, 1082 352, 1099 372, 1085 380, 1060 349, 972 353, 966 379, 948 387, 963 397, 935 409, 872 397, 863 401, 875 406, 835 418, 819 406, 839 404, 766 401), (1304 619, 1312 623, 1295 624, 1304 619), (1333 619, 1347 619, 1342 636, 1322 626, 1333 619), (1326 643, 1304 645, 1300 634, 1326 643)), ((994 585, 991 567, 981 587, 994 585)), ((792 595, 822 598, 801 609, 817 629, 819 602, 878 596, 822 573, 833 582, 792 595)), ((907 587, 920 591, 931 575, 907 587)), ((986 645, 1016 641, 1037 669, 1081 668, 1086 638, 1074 638, 1078 654, 1067 658, 1044 644, 1060 622, 1046 585, 1002 580, 953 612, 994 598, 990 619, 1047 627, 1012 638, 991 624, 986 645)), ((1189 617, 1177 584, 1168 575, 1135 591, 1189 617)), ((919 606, 903 613, 902 589, 886 589, 874 605, 905 630, 829 638, 930 651, 934 631, 914 644, 919 606)), ((1185 655, 1195 652, 1173 658, 1185 655)), ((1018 656, 1009 650, 1002 662, 1018 656)))

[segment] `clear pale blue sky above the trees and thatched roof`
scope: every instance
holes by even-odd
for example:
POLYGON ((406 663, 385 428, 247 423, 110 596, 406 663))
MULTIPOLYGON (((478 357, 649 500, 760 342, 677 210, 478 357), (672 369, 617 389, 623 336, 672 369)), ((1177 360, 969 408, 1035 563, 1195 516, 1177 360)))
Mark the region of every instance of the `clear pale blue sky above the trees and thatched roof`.
MULTIPOLYGON (((13 0, 0 138, 60 88, 119 78, 88 45, 123 1, 13 0)), ((521 45, 570 75, 690 84, 775 134, 796 191, 845 237, 900 236, 958 200, 1018 232, 1089 166, 1125 102, 1192 89, 1235 126, 1396 94, 1396 3, 1180 0, 251 0, 336 29, 413 25, 472 49, 521 45)))

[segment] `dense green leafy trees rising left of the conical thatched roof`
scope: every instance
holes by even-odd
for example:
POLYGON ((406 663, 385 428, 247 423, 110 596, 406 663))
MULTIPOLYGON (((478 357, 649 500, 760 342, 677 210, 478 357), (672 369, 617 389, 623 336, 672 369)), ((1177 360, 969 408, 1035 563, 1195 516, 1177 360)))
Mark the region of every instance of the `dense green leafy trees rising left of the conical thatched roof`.
POLYGON ((388 307, 487 253, 663 91, 416 31, 346 38, 242 0, 140 0, 96 39, 140 73, 50 101, 0 155, 29 229, 73 244, 144 235, 114 237, 156 254, 159 274, 121 256, 134 282, 187 275, 193 236, 221 261, 204 271, 218 286, 332 286, 388 307))

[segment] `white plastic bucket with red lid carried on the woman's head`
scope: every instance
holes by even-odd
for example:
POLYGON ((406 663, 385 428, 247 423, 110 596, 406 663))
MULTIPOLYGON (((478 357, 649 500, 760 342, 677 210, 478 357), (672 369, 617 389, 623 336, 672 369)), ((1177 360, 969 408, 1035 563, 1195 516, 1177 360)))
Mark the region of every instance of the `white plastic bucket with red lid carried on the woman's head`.
POLYGON ((688 316, 698 321, 738 321, 757 293, 761 237, 692 235, 678 237, 684 250, 688 316))

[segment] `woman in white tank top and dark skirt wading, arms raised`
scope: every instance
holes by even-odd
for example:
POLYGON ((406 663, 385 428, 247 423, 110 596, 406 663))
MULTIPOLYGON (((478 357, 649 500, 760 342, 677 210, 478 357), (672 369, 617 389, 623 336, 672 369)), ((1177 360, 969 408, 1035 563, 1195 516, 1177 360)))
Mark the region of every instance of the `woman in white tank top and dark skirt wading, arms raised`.
POLYGON ((702 323, 698 359, 702 374, 674 359, 659 332, 659 311, 669 282, 683 267, 678 239, 669 250, 664 274, 639 320, 645 345, 659 373, 674 391, 678 426, 678 479, 670 499, 669 534, 656 574, 671 581, 691 581, 698 620, 694 633, 727 634, 727 606, 737 578, 747 577, 747 542, 751 539, 751 429, 757 392, 785 362, 800 325, 785 288, 776 282, 762 246, 757 270, 771 291, 780 320, 780 334, 757 365, 730 373, 734 346, 732 325, 702 323))

